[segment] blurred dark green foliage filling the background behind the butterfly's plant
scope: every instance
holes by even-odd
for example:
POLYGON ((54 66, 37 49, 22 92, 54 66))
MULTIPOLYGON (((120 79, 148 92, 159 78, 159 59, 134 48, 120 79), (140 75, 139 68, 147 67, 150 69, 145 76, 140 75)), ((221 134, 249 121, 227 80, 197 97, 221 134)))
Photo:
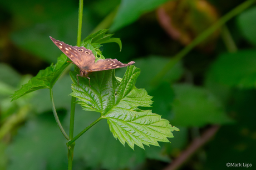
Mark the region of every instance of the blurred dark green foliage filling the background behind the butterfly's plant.
MULTIPOLYGON (((116 43, 104 44, 100 49, 105 58, 136 62, 141 69, 136 87, 145 88, 153 96, 152 112, 168 119, 180 132, 174 132, 171 144, 145 146, 145 151, 135 146, 133 151, 116 141, 107 122, 102 121, 76 141, 73 169, 162 169, 200 136, 194 134, 213 124, 221 125, 214 140, 190 157, 183 169, 230 169, 225 166, 228 162, 254 163, 256 7, 226 23, 230 41, 237 45, 235 53, 227 52, 228 44, 218 35, 214 45, 205 47, 211 50, 191 50, 158 85, 152 85, 152 78, 186 47, 171 39, 157 20, 155 11, 164 2, 85 1, 82 39, 118 8, 110 31, 121 38, 122 51, 116 43)), ((244 1, 210 2, 221 17, 244 1)), ((50 35, 75 45, 77 11, 78 1, 0 1, 0 169, 67 167, 66 141, 52 115, 48 89, 13 102, 9 97, 31 75, 56 63, 61 51, 50 35)), ((124 72, 125 68, 116 69, 116 76, 122 77, 124 72)), ((66 73, 53 87, 58 116, 66 130, 71 83, 66 73)), ((97 117, 97 113, 77 106, 75 135, 97 117)))

